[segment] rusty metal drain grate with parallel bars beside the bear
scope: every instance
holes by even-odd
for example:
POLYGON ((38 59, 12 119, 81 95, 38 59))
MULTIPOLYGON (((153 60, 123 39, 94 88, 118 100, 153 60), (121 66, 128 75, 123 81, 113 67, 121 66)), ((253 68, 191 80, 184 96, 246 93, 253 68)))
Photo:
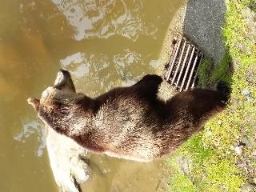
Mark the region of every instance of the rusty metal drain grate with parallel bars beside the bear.
POLYGON ((166 81, 178 91, 193 89, 203 53, 180 34, 174 37, 172 46, 170 62, 166 65, 166 81))

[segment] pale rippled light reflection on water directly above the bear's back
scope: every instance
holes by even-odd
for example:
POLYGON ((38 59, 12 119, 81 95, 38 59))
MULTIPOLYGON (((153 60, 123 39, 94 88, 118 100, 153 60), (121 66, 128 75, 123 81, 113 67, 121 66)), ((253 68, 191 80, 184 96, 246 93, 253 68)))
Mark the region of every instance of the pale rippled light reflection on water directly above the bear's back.
POLYGON ((126 49, 112 57, 78 52, 61 59, 60 64, 63 69, 70 71, 78 90, 96 96, 114 86, 132 85, 158 65, 158 60, 152 60, 148 65, 148 59, 142 58, 136 51, 126 49), (143 70, 142 66, 145 66, 143 70))

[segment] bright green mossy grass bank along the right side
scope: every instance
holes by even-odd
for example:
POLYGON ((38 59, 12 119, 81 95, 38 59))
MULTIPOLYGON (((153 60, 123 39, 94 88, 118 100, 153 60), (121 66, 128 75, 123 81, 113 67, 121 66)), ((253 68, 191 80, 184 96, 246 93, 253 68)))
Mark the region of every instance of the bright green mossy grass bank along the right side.
POLYGON ((226 4, 226 55, 216 68, 212 61, 204 59, 198 77, 201 87, 227 82, 232 89, 230 103, 222 114, 206 123, 202 133, 190 138, 166 160, 173 169, 170 191, 240 191, 251 175, 238 167, 238 160, 250 161, 256 170, 252 157, 256 144, 245 146, 242 155, 234 152, 242 137, 254 139, 256 132, 256 45, 248 38, 250 29, 242 17, 242 10, 248 6, 255 10, 255 3, 230 0, 226 4), (246 46, 246 51, 238 45, 246 46), (250 91, 250 98, 242 94, 245 89, 250 91), (186 173, 180 166, 181 158, 190 162, 186 173))

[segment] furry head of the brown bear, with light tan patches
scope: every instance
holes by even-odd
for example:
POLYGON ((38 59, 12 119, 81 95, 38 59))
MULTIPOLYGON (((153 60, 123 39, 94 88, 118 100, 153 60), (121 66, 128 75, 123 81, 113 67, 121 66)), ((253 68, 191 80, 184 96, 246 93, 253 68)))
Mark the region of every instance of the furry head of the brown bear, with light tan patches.
POLYGON ((41 98, 28 98, 27 102, 34 107, 38 117, 47 126, 65 134, 68 126, 65 122, 72 123, 81 110, 79 101, 85 95, 77 94, 70 73, 59 70, 54 85, 42 92, 41 98))

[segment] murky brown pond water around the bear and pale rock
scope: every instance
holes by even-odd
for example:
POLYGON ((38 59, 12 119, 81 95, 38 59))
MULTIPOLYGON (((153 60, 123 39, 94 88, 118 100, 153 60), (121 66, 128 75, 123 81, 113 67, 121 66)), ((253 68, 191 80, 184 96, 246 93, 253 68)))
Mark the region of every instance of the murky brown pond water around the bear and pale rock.
MULTIPOLYGON (((0 191, 58 191, 42 122, 26 104, 59 68, 95 96, 154 73, 167 26, 183 1, 0 1, 0 191)), ((86 191, 164 191, 161 161, 90 154, 86 191)))

